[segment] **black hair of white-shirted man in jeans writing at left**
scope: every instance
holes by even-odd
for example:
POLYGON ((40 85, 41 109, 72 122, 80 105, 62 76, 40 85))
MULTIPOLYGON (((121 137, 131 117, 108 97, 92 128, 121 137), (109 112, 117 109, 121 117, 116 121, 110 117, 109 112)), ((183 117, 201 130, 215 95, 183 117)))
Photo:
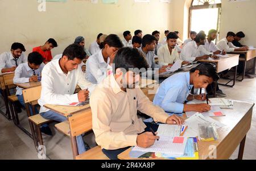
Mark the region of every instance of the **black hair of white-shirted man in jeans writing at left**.
POLYGON ((69 45, 63 52, 62 56, 67 56, 68 60, 77 59, 85 59, 86 53, 84 52, 84 48, 79 44, 71 44, 69 45))

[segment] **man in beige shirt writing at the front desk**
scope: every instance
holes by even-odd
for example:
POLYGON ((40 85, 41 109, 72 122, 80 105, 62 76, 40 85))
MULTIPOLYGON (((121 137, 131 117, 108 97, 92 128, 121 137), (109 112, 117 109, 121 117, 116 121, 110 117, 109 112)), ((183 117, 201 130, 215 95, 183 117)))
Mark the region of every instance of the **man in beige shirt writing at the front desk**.
POLYGON ((152 132, 144 132, 146 125, 138 118, 137 110, 156 122, 179 125, 184 122, 153 105, 137 86, 138 70, 148 68, 146 59, 137 49, 118 50, 114 63, 114 74, 98 84, 90 97, 96 142, 110 159, 117 159, 119 153, 131 146, 150 147, 159 138, 152 132))

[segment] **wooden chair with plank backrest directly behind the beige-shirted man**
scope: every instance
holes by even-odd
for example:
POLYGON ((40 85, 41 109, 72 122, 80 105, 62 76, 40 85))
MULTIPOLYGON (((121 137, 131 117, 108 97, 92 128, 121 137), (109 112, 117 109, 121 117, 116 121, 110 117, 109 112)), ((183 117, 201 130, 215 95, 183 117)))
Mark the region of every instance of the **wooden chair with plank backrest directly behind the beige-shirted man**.
POLYGON ((92 112, 90 109, 73 114, 68 117, 71 146, 73 158, 76 160, 109 160, 109 158, 101 151, 100 146, 89 149, 88 151, 79 155, 77 150, 76 136, 84 134, 92 130, 92 112))

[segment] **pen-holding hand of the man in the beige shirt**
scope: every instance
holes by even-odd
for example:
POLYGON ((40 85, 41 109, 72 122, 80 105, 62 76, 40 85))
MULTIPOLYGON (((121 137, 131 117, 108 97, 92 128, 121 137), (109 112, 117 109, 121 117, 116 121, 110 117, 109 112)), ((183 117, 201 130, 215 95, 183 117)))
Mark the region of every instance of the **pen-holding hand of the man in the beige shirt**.
POLYGON ((137 146, 142 148, 151 147, 154 145, 155 140, 159 139, 159 136, 156 135, 157 133, 154 135, 152 132, 144 132, 138 135, 136 140, 137 146))

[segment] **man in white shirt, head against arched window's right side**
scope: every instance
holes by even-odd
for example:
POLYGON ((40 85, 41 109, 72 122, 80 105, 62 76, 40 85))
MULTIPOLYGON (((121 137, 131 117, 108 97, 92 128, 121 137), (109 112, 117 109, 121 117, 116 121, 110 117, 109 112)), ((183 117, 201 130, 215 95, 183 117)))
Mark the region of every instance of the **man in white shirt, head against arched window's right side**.
POLYGON ((204 49, 207 50, 208 52, 212 52, 213 54, 223 54, 225 55, 226 52, 225 50, 220 50, 217 48, 217 46, 214 44, 214 40, 216 39, 217 36, 217 30, 216 29, 210 29, 208 32, 207 40, 205 40, 204 49))

